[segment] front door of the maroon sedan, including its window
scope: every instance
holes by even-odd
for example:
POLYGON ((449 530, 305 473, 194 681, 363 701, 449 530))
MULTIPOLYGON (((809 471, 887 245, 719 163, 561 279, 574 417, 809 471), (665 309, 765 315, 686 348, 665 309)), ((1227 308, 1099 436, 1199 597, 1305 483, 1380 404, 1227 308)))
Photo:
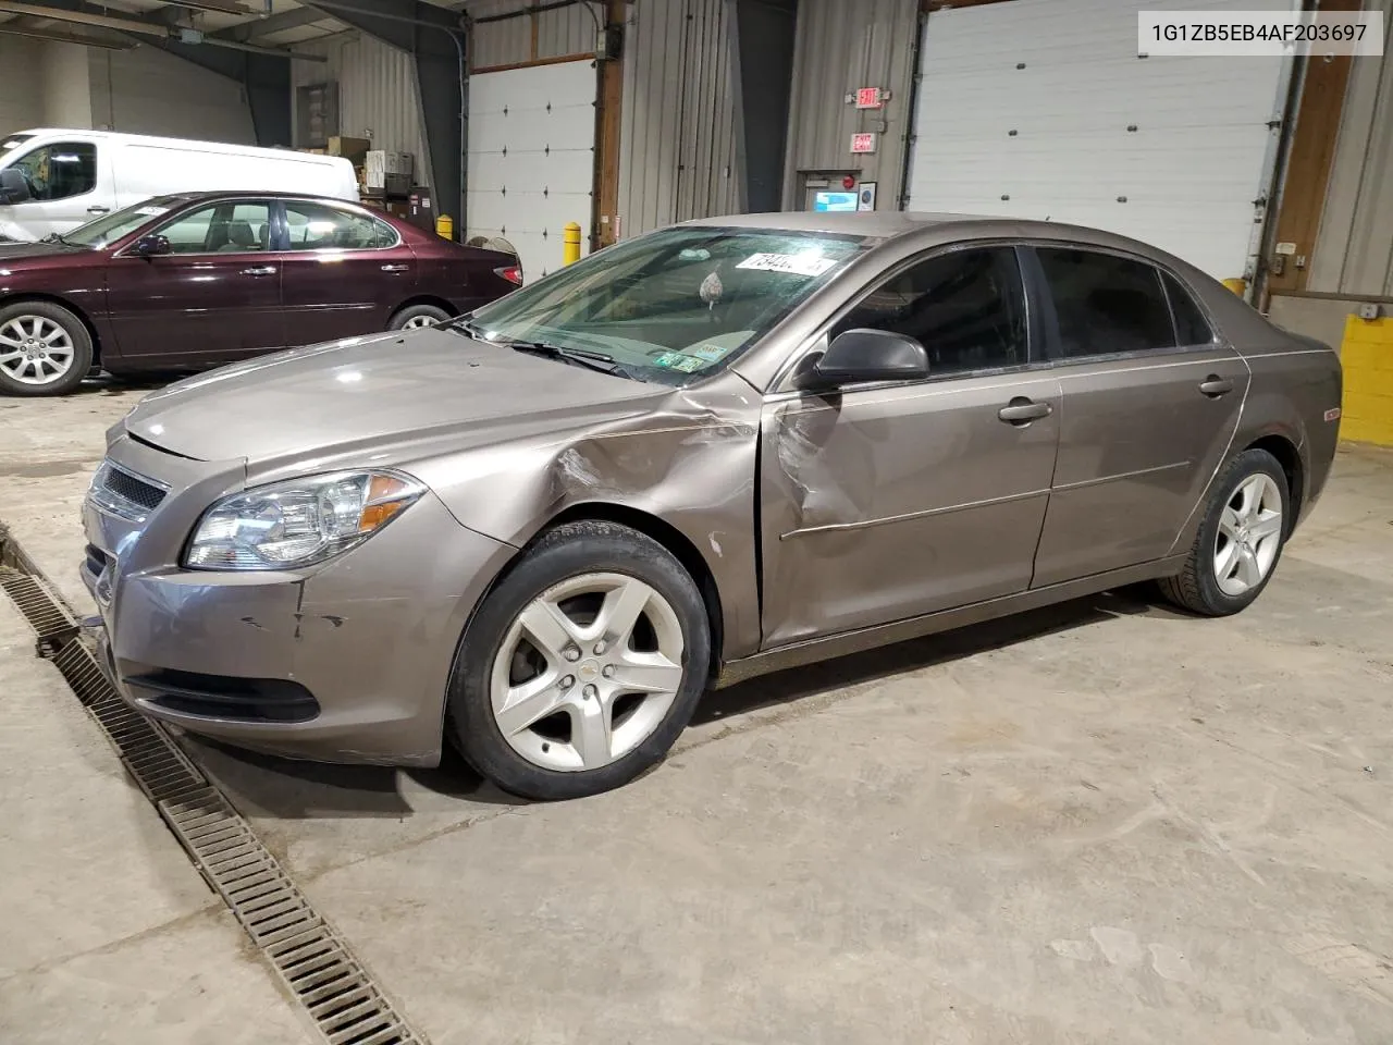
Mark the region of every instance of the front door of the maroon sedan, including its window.
POLYGON ((174 216, 170 252, 130 248, 107 266, 107 302, 124 359, 202 366, 286 344, 270 205, 235 199, 174 216))

